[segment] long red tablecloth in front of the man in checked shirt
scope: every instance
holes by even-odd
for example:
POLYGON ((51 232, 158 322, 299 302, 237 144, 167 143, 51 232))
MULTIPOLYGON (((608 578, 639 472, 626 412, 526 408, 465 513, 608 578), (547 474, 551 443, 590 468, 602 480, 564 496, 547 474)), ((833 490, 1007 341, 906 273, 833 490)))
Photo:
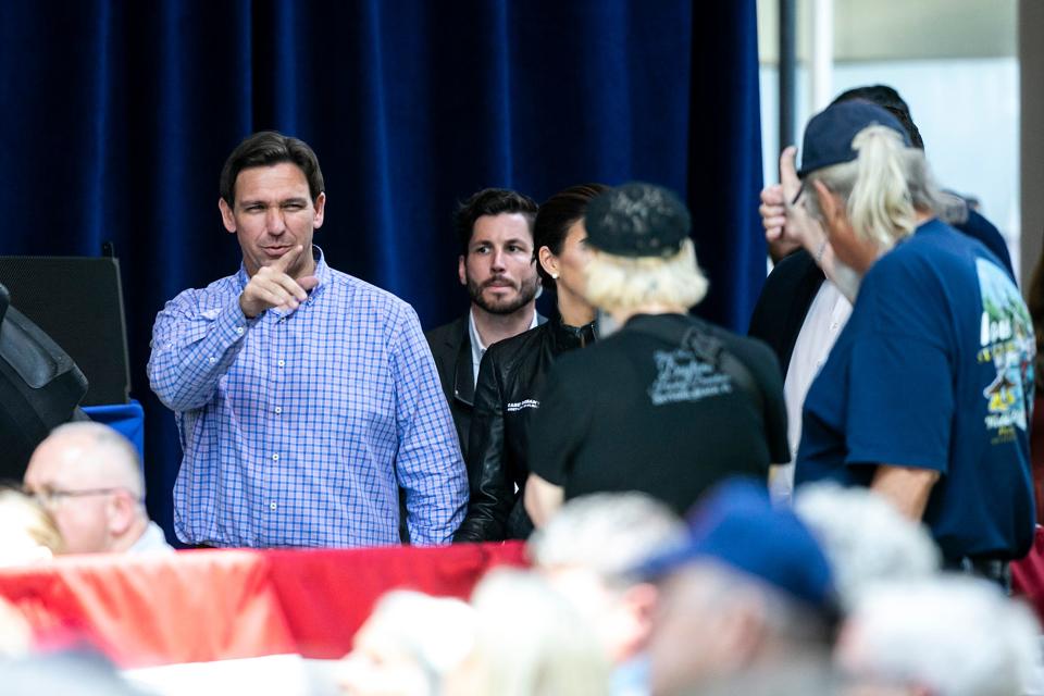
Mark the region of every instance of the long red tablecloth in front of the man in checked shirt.
POLYGON ((0 570, 0 596, 45 643, 88 639, 121 667, 347 652, 374 601, 401 587, 467 597, 523 546, 82 556, 0 570))

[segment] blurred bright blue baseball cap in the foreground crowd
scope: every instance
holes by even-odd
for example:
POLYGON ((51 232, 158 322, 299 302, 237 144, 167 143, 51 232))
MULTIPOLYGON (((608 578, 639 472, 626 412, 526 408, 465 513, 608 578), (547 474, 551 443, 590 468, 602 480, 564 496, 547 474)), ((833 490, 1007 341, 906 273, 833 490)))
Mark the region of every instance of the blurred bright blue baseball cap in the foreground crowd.
POLYGON ((832 609, 830 564, 819 543, 791 510, 772 507, 763 484, 730 478, 713 488, 688 518, 688 538, 635 569, 658 580, 689 563, 710 560, 758 579, 809 606, 832 609))

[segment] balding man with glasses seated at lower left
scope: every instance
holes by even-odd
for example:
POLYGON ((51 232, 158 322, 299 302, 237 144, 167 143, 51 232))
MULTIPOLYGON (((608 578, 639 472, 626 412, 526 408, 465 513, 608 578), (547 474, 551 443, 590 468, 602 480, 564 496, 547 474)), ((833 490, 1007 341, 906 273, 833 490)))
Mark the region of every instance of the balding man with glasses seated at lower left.
POLYGON ((37 446, 25 490, 54 518, 66 554, 171 551, 145 510, 134 445, 100 423, 67 423, 37 446))

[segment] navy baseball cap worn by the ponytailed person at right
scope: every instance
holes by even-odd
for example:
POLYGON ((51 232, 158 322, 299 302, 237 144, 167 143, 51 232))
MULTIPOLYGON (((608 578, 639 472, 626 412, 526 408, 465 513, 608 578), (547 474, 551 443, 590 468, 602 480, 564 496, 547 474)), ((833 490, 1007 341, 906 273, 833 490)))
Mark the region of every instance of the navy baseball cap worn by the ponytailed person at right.
POLYGON ((860 130, 874 124, 892 128, 903 137, 906 147, 912 147, 903 124, 887 110, 858 99, 843 101, 826 107, 808 122, 797 176, 805 178, 824 166, 855 160, 859 153, 852 147, 852 141, 860 130))

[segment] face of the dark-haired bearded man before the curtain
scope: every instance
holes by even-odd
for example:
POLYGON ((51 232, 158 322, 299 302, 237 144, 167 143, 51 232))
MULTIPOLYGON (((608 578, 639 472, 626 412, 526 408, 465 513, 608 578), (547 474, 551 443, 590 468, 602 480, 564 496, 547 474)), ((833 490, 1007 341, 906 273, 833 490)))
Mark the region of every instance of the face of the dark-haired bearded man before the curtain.
POLYGON ((471 301, 490 314, 510 314, 531 302, 538 278, 525 216, 501 213, 476 220, 458 272, 471 301))

